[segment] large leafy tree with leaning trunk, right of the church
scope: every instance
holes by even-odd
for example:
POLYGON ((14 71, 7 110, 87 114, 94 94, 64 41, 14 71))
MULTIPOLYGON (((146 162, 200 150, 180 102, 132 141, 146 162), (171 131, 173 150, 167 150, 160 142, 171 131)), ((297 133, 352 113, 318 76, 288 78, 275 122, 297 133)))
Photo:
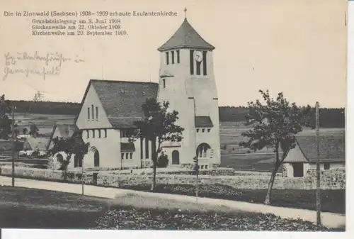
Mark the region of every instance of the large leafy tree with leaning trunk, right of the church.
POLYGON ((259 92, 265 104, 259 100, 249 102, 245 126, 252 128, 242 133, 247 140, 239 145, 253 151, 273 148, 275 163, 264 201, 264 204, 270 204, 275 174, 285 159, 285 152, 295 147, 295 135, 302 131, 302 126, 314 127, 313 109, 310 106, 298 107, 295 103, 290 104, 282 93, 278 94, 277 99, 273 99, 268 90, 259 92), (280 150, 283 152, 282 157, 279 156, 280 150))

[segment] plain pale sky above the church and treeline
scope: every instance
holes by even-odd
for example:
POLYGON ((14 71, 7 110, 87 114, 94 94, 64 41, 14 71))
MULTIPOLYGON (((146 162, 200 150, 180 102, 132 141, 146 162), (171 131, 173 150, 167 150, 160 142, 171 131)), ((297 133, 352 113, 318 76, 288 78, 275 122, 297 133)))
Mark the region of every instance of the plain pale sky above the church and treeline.
MULTIPOLYGON (((80 102, 89 79, 158 82, 157 48, 181 26, 185 8, 188 22, 215 46, 220 106, 246 106, 248 101, 260 99, 259 89, 269 89, 273 96, 281 91, 299 105, 319 101, 325 107, 346 106, 344 0, 1 1, 0 94, 6 94, 6 99, 30 100, 36 91, 42 91, 44 100, 80 102), (120 25, 127 36, 33 36, 33 17, 4 16, 3 11, 178 14, 122 17, 120 25), (55 53, 71 60, 62 62, 59 74, 47 74, 45 79, 38 74, 6 74, 6 59, 8 62, 17 53, 23 56, 23 52, 28 56, 55 53)), ((59 66, 31 60, 8 64, 7 69, 12 70, 59 66)))

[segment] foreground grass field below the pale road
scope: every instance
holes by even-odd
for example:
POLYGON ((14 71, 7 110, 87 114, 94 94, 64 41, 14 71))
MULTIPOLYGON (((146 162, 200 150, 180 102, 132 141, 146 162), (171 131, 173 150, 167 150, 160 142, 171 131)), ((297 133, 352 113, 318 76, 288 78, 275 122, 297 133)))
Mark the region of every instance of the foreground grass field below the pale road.
POLYGON ((1 228, 155 230, 329 230, 271 214, 137 195, 115 200, 38 189, 0 187, 1 228))

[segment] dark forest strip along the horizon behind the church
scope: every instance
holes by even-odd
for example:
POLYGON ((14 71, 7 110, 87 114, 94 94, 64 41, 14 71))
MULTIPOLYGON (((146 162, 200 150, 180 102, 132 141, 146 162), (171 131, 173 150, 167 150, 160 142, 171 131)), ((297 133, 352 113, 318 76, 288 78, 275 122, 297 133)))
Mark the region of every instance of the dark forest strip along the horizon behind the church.
MULTIPOLYGON (((17 113, 42 113, 76 115, 79 113, 80 104, 72 102, 51 101, 13 101, 17 113)), ((240 122, 245 120, 249 112, 246 106, 219 106, 220 121, 240 122)), ((320 124, 324 128, 344 128, 344 109, 320 109, 320 124)))

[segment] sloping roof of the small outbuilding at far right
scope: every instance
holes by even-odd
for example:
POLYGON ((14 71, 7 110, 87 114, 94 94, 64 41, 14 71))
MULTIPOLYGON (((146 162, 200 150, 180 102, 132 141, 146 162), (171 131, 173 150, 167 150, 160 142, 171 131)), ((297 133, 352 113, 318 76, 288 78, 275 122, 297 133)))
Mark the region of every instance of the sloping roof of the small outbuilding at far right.
MULTIPOLYGON (((309 162, 316 162, 316 135, 298 135, 296 140, 304 157, 306 157, 309 162)), ((346 140, 344 134, 320 135, 319 142, 319 158, 321 162, 345 161, 346 140)))

